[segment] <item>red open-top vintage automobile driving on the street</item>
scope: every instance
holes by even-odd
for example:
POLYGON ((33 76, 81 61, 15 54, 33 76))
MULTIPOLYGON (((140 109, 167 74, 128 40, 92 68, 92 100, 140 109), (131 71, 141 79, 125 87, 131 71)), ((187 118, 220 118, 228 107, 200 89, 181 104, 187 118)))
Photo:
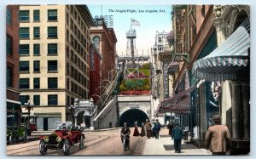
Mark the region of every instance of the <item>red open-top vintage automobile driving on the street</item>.
POLYGON ((49 136, 41 136, 39 150, 45 155, 48 149, 63 149, 65 155, 69 155, 70 146, 79 144, 79 149, 84 149, 84 127, 72 125, 72 122, 57 122, 55 132, 49 136))

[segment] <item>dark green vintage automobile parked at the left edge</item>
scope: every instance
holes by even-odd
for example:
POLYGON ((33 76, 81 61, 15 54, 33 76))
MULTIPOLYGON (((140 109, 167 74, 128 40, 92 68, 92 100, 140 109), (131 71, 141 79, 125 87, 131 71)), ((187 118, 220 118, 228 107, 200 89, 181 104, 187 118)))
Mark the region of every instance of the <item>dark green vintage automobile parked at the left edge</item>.
POLYGON ((26 141, 26 125, 7 125, 6 137, 9 144, 15 144, 18 140, 26 141))

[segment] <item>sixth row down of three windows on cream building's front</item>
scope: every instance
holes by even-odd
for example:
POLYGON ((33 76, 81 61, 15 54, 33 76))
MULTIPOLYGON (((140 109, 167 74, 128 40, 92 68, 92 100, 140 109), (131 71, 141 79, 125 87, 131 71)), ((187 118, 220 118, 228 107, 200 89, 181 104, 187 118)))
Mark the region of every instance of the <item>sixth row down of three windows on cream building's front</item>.
MULTIPOLYGON (((24 103, 29 100, 29 95, 20 95, 20 103, 24 105, 24 103)), ((34 105, 40 105, 40 95, 33 95, 33 103, 34 105)), ((58 95, 50 94, 48 95, 48 105, 58 105, 58 95)))

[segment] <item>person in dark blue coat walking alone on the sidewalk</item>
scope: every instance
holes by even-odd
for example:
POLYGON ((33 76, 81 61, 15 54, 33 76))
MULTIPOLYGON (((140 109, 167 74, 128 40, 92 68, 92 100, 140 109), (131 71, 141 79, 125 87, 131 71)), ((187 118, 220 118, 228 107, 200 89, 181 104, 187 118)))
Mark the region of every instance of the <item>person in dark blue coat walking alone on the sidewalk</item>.
POLYGON ((172 128, 172 139, 174 139, 174 150, 175 153, 181 152, 181 141, 183 139, 183 129, 176 123, 175 127, 172 128))

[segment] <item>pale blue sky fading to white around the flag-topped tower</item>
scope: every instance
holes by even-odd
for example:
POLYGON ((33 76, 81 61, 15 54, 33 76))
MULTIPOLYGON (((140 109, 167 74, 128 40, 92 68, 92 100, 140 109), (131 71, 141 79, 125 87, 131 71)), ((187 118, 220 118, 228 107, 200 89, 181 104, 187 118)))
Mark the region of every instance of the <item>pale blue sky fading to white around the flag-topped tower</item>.
POLYGON ((151 48, 154 47, 156 31, 170 32, 172 30, 172 5, 170 4, 87 6, 93 18, 96 15, 113 15, 113 30, 118 40, 116 52, 119 55, 126 55, 126 31, 131 29, 131 19, 140 23, 140 26, 132 26, 132 29, 137 31, 135 41, 137 54, 139 55, 150 54, 151 48))

